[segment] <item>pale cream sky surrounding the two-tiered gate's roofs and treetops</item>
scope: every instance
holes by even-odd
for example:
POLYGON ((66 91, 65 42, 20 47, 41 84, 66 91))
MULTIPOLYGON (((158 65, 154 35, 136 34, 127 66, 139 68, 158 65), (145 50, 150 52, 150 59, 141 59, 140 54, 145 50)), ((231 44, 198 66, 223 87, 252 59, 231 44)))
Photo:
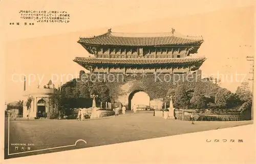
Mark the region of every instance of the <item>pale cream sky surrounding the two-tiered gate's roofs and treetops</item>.
MULTIPOLYGON (((79 36, 107 32, 171 32, 202 35, 198 54, 205 77, 222 79, 220 85, 235 91, 250 78, 246 56, 254 54, 254 7, 252 1, 2 1, 4 29, 5 98, 20 99, 23 78, 27 88, 55 86, 78 76, 83 68, 73 62, 88 52, 77 43, 79 36), (15 4, 8 8, 4 5, 15 4), (60 5, 61 4, 61 5, 60 5), (70 14, 67 24, 39 23, 24 26, 20 10, 59 10, 70 14), (20 26, 9 25, 19 22, 20 26), (62 77, 62 78, 61 78, 62 77), (237 80, 236 80, 236 77, 237 80), (30 80, 29 80, 30 79, 30 80), (232 80, 232 81, 231 81, 232 80)), ((31 21, 32 22, 32 21, 31 21)))

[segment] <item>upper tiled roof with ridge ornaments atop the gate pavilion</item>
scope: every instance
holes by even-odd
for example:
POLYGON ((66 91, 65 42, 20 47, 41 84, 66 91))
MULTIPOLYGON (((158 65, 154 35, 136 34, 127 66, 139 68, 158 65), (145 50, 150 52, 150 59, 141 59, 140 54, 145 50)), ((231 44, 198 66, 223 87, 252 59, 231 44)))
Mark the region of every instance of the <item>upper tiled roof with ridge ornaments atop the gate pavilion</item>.
POLYGON ((160 45, 198 45, 203 42, 202 36, 182 36, 176 33, 108 33, 94 37, 80 37, 78 43, 113 46, 160 46, 160 45))

